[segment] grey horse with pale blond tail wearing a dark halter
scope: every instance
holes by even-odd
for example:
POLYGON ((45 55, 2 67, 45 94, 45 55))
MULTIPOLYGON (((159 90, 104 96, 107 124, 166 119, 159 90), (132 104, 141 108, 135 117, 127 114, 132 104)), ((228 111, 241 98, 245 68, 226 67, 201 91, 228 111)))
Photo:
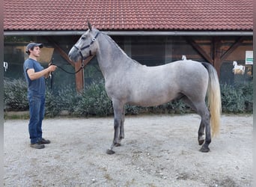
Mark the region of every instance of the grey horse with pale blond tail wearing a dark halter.
POLYGON ((114 108, 114 140, 107 153, 115 153, 113 147, 120 146, 124 138, 126 103, 155 106, 173 99, 182 99, 201 116, 198 144, 203 144, 201 152, 208 152, 211 135, 219 132, 222 108, 219 79, 213 66, 184 60, 147 67, 129 58, 107 34, 91 28, 89 23, 88 26, 88 31, 70 49, 69 57, 76 62, 91 55, 97 56, 105 79, 106 93, 114 108), (206 94, 210 112, 204 100, 206 94))

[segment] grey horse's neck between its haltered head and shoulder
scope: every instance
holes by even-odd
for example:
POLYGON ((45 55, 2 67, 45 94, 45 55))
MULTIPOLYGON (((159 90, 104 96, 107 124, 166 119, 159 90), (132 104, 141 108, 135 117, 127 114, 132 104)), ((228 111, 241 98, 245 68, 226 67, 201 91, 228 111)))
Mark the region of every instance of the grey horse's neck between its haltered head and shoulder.
POLYGON ((120 68, 125 68, 131 58, 106 34, 101 34, 97 50, 97 61, 103 76, 115 72, 120 68))

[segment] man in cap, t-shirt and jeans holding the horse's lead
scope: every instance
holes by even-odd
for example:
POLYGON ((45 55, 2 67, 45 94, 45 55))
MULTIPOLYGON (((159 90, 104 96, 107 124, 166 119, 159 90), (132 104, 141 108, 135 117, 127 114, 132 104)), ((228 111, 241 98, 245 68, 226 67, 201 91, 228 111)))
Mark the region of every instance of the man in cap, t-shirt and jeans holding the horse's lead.
POLYGON ((28 83, 28 105, 29 105, 29 123, 28 132, 31 141, 31 147, 35 149, 43 149, 44 144, 50 141, 42 138, 42 120, 44 117, 45 105, 45 78, 56 70, 56 66, 49 65, 44 69, 37 58, 40 57, 40 48, 42 43, 28 43, 25 52, 28 59, 23 64, 26 82, 28 83))

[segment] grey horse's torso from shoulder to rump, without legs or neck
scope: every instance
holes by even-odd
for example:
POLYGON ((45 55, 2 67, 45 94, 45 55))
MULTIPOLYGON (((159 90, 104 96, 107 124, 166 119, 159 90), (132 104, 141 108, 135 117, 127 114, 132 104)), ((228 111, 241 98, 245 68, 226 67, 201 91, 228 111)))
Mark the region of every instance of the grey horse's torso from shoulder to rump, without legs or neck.
POLYGON ((174 61, 156 67, 136 64, 115 81, 117 87, 111 91, 115 93, 114 97, 131 104, 149 106, 161 105, 181 94, 204 97, 208 74, 200 62, 174 61))

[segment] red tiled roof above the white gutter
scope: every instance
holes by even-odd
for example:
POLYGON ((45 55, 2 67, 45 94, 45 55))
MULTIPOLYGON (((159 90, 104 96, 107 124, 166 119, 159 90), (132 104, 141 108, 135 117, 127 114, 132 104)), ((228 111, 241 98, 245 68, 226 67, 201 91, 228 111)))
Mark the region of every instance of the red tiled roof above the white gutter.
POLYGON ((253 0, 12 0, 4 31, 252 31, 253 0))

